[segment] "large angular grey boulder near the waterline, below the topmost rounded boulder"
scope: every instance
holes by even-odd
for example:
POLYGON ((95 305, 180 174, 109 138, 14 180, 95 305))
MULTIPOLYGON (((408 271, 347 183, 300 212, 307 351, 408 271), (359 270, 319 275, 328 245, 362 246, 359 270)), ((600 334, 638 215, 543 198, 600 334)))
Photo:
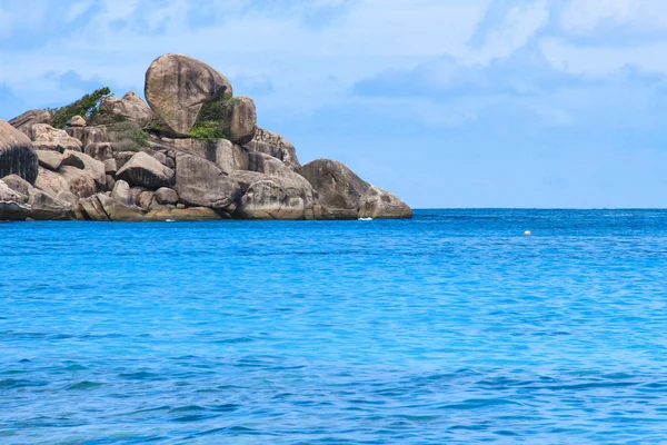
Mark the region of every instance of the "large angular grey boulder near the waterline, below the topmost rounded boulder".
POLYGON ((186 154, 178 154, 176 158, 175 189, 189 206, 229 210, 241 191, 239 184, 213 162, 186 154))

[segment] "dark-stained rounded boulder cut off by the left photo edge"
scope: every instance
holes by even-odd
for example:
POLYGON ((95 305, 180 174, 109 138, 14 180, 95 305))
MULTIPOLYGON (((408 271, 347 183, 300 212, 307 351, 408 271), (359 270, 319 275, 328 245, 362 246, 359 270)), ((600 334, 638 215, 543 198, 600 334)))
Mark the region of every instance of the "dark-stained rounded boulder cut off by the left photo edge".
POLYGON ((30 139, 0 119, 0 178, 16 174, 34 184, 38 167, 39 160, 30 139))

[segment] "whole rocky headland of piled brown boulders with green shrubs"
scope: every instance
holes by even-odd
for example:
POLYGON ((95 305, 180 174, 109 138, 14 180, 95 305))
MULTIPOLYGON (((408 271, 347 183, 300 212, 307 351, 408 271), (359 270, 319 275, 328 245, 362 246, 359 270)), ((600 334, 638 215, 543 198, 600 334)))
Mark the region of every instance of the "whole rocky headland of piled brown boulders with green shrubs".
POLYGON ((0 120, 0 220, 410 218, 339 161, 305 166, 208 65, 156 59, 146 103, 108 88, 0 120))

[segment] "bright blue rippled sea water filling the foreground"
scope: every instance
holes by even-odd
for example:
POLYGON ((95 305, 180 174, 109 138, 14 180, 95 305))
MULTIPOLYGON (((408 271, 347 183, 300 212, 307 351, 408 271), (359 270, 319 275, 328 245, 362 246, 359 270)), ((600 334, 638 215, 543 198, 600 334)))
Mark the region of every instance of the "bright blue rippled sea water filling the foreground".
POLYGON ((667 211, 2 224, 0 251, 3 444, 667 442, 667 211))

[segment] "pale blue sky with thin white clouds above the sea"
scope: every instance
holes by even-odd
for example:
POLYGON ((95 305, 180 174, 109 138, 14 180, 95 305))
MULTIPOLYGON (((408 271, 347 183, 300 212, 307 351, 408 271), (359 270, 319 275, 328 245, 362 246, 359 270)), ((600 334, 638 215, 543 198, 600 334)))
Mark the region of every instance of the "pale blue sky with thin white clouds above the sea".
POLYGON ((0 0, 0 118, 167 52, 415 208, 667 207, 665 0, 0 0))

